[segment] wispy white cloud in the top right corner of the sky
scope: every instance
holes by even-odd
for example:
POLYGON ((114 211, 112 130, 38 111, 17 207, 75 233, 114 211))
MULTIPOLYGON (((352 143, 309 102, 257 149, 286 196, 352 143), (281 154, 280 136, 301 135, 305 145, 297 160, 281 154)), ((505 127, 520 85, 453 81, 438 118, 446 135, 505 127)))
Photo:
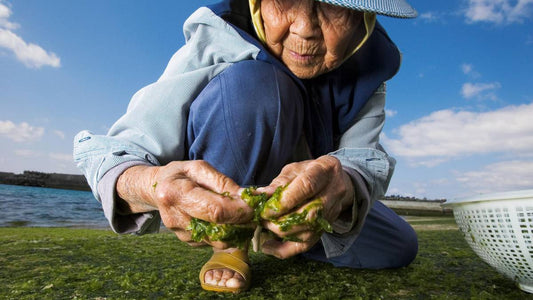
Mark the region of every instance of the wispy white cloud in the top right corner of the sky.
POLYGON ((515 23, 530 17, 533 0, 468 0, 467 22, 515 23))

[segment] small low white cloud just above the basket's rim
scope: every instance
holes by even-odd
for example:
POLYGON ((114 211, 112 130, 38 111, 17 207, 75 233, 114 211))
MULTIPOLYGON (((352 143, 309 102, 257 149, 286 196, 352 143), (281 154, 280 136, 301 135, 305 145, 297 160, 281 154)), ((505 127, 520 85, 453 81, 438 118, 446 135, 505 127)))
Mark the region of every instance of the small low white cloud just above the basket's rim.
POLYGON ((458 174, 457 181, 472 193, 493 193, 533 187, 533 161, 513 160, 494 163, 479 171, 458 174))

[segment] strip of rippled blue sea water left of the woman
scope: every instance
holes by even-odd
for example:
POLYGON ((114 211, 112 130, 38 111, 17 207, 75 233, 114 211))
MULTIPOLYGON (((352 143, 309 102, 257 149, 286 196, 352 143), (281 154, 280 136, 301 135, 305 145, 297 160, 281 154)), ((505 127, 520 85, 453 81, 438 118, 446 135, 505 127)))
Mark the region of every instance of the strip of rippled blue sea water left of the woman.
POLYGON ((108 228, 91 192, 0 184, 0 227, 108 228))

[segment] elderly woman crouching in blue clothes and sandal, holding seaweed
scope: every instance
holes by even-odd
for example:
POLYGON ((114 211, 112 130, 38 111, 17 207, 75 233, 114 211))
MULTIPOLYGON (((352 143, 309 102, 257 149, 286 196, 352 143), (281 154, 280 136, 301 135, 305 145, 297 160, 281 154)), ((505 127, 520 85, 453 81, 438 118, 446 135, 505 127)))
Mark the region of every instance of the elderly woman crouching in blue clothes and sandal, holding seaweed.
POLYGON ((242 291, 251 280, 247 244, 193 241, 189 226, 251 224, 243 187, 270 196, 281 186, 278 207, 261 212, 275 236, 263 253, 408 265, 416 235, 377 200, 394 169, 379 134, 384 82, 400 54, 376 14, 416 16, 404 0, 226 0, 198 9, 184 24, 186 44, 109 133, 75 138, 75 160, 113 230, 156 232, 162 220, 180 240, 213 247, 204 289, 242 291), (330 232, 281 228, 304 210, 330 232))

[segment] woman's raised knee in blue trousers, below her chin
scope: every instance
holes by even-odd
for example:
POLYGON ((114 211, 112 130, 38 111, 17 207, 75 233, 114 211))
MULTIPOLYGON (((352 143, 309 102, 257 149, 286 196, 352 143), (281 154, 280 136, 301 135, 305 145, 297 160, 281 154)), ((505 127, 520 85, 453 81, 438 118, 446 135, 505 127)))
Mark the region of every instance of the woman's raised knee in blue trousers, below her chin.
POLYGON ((302 92, 289 75, 265 62, 237 62, 190 106, 189 159, 206 160, 241 185, 268 184, 288 161, 302 126, 302 92))

